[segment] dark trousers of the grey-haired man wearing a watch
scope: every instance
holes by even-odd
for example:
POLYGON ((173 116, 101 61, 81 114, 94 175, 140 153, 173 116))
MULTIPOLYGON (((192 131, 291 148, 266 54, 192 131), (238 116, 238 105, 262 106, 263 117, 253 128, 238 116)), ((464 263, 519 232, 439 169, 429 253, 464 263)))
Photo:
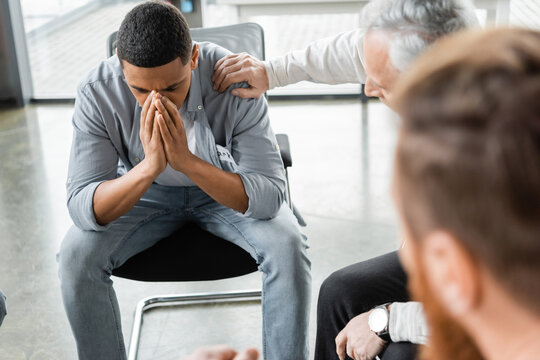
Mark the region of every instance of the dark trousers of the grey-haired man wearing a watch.
MULTIPOLYGON (((322 284, 317 305, 315 360, 339 360, 335 338, 348 322, 377 305, 409 301, 407 275, 396 251, 347 266, 322 284)), ((412 360, 416 345, 390 343, 381 360, 412 360)))

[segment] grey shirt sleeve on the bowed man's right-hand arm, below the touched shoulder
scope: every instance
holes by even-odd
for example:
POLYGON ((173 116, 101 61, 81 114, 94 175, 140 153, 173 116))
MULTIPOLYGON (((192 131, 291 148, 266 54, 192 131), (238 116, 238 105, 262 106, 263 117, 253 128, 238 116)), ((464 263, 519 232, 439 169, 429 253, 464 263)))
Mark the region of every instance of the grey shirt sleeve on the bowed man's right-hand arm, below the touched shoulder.
POLYGON ((232 156, 238 164, 249 197, 245 216, 256 219, 274 217, 285 199, 285 171, 276 137, 270 127, 264 97, 236 102, 236 122, 232 137, 232 156))

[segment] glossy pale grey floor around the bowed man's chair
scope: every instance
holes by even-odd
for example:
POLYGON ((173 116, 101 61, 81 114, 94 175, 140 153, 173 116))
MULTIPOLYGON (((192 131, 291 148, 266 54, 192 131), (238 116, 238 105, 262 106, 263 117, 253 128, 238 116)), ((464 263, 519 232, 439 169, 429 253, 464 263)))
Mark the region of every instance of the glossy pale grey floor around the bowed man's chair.
MULTIPOLYGON (((0 359, 76 358, 60 298, 55 254, 71 220, 64 182, 71 143, 71 105, 31 105, 0 112, 0 289, 8 316, 0 359)), ((313 262, 311 347, 321 282, 334 270, 397 246, 390 197, 397 120, 358 101, 271 102, 274 130, 288 133, 293 200, 308 222, 313 262)), ((137 301, 154 294, 253 289, 260 275, 218 282, 142 283, 114 279, 124 337, 137 301)), ((257 304, 152 310, 139 359, 179 359, 195 347, 261 347, 257 304)))

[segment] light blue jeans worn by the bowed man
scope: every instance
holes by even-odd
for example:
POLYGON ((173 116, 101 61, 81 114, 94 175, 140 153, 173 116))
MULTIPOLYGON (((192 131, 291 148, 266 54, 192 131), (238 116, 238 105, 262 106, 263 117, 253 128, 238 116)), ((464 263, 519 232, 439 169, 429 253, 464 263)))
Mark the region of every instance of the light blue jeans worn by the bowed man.
POLYGON ((264 359, 307 360, 311 264, 305 238, 287 205, 275 218, 257 220, 217 203, 198 187, 160 185, 152 185, 107 230, 72 226, 62 242, 62 297, 79 359, 126 358, 111 272, 187 221, 242 247, 259 264, 264 359))

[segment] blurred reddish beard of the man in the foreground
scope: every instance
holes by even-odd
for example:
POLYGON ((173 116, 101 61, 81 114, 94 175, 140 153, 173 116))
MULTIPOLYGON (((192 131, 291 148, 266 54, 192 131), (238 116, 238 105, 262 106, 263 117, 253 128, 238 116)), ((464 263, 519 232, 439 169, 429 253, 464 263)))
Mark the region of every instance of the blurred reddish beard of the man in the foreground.
POLYGON ((413 298, 423 304, 429 324, 428 344, 421 348, 419 359, 484 359, 472 338, 440 305, 429 288, 424 270, 419 262, 416 262, 416 265, 415 274, 410 274, 409 288, 413 298))

